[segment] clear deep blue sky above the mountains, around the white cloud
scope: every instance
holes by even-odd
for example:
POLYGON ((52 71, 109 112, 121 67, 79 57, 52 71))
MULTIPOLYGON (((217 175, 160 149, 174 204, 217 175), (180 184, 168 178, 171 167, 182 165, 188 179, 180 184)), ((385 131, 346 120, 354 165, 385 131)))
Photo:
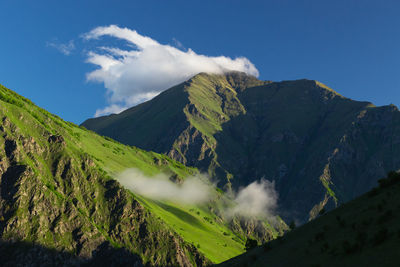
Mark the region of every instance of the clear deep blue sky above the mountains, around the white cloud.
POLYGON ((2 0, 0 11, 0 83, 75 123, 113 104, 103 83, 87 80, 99 68, 88 53, 130 46, 82 38, 109 25, 184 52, 245 57, 263 80, 315 79, 400 105, 399 1, 2 0))

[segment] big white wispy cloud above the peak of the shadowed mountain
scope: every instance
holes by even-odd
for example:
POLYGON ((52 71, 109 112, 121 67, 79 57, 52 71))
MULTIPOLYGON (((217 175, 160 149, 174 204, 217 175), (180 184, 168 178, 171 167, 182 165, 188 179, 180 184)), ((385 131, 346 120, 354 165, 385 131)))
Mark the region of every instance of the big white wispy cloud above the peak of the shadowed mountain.
MULTIPOLYGON (((87 79, 104 83, 110 103, 110 107, 97 110, 96 116, 146 101, 200 72, 242 71, 258 76, 256 67, 245 57, 199 55, 191 49, 183 51, 163 45, 115 25, 97 27, 83 38, 93 40, 103 36, 124 40, 130 48, 100 46, 96 51, 89 51, 87 62, 99 68, 88 73, 87 79)), ((179 47, 179 43, 177 45, 179 47)))

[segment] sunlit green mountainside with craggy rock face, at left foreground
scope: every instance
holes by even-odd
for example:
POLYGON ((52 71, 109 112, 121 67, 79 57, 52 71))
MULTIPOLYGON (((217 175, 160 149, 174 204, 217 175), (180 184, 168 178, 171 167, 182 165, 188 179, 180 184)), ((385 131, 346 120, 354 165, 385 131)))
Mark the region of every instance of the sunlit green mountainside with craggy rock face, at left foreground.
POLYGON ((65 122, 3 86, 0 120, 2 264, 205 266, 241 254, 247 236, 266 241, 287 229, 282 220, 227 220, 218 200, 134 195, 116 174, 135 168, 180 182, 199 171, 65 122))

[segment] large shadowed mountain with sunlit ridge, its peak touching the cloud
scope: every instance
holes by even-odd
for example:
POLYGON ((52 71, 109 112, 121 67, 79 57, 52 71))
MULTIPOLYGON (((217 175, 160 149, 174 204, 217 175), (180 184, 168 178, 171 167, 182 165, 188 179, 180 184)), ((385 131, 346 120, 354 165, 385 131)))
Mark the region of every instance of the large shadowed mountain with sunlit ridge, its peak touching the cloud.
POLYGON ((225 189, 275 181, 284 219, 304 222, 400 168, 400 112, 313 80, 200 73, 120 114, 82 124, 195 166, 225 189))

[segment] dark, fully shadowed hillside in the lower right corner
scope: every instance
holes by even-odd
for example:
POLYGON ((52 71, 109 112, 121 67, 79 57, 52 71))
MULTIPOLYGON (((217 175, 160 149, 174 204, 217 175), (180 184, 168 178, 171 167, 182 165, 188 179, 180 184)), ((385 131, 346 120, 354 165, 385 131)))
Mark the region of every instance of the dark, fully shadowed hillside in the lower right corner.
POLYGON ((379 188, 218 266, 399 266, 400 174, 379 188))

